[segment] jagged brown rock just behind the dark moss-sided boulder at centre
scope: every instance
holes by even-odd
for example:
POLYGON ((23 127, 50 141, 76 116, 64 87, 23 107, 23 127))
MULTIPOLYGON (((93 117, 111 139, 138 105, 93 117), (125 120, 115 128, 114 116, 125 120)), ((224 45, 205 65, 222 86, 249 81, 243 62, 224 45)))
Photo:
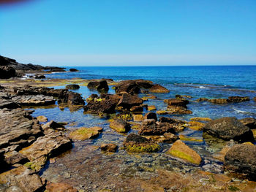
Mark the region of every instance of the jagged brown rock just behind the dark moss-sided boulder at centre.
POLYGON ((174 128, 169 123, 157 122, 153 119, 143 120, 140 135, 163 135, 165 133, 175 133, 174 128))

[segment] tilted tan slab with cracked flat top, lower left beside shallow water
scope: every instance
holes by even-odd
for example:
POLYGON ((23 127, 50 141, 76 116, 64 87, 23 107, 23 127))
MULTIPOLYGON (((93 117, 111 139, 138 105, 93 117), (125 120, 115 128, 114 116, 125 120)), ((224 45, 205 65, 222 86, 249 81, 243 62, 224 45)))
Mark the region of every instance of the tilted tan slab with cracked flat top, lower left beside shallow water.
POLYGON ((23 148, 19 153, 29 158, 29 163, 25 165, 35 172, 39 172, 46 161, 60 153, 69 150, 72 147, 71 140, 61 132, 49 130, 43 137, 37 140, 29 147, 23 148))

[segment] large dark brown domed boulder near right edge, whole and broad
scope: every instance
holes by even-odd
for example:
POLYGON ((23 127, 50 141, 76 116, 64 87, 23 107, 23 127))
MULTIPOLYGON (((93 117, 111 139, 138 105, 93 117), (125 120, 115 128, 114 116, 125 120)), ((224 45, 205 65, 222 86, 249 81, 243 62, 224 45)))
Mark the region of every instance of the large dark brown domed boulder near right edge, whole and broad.
POLYGON ((234 139, 239 142, 253 140, 252 131, 237 118, 211 120, 203 127, 203 131, 225 140, 234 139))

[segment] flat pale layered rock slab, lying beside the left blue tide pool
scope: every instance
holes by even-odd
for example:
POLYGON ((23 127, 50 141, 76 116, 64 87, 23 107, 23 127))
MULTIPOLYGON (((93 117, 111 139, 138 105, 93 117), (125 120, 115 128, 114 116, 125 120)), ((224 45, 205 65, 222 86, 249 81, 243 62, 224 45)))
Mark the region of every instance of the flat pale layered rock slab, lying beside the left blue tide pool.
POLYGON ((44 95, 25 95, 25 96, 14 96, 12 101, 16 104, 25 105, 25 106, 45 106, 50 104, 55 104, 55 99, 53 96, 44 96, 44 95))

